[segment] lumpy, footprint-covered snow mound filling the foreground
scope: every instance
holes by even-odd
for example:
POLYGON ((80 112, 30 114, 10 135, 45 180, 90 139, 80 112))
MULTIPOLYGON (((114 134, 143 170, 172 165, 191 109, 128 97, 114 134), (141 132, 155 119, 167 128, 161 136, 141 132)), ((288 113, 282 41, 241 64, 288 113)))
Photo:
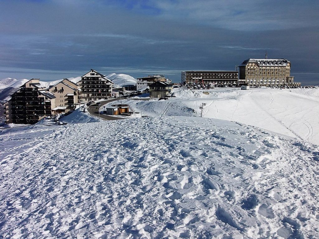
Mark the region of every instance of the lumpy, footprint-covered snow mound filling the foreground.
POLYGON ((319 238, 318 146, 198 117, 0 135, 0 238, 319 238))

